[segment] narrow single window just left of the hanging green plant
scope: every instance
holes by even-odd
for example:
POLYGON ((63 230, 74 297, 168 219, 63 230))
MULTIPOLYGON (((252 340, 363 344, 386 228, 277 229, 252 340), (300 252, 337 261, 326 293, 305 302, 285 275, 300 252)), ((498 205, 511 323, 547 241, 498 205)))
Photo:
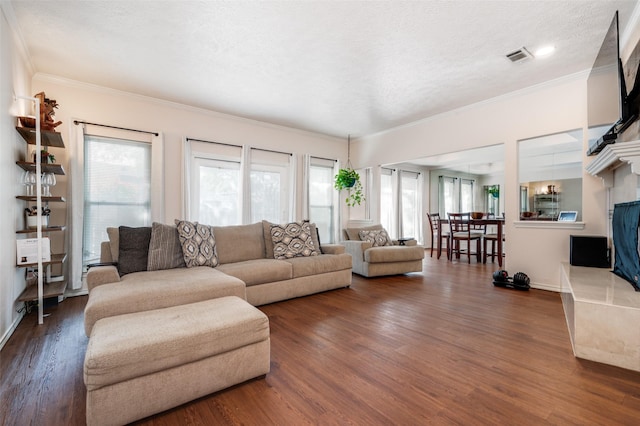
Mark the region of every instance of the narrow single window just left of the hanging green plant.
POLYGON ((335 241, 335 194, 333 177, 336 161, 311 157, 309 164, 309 220, 315 222, 321 242, 335 241))

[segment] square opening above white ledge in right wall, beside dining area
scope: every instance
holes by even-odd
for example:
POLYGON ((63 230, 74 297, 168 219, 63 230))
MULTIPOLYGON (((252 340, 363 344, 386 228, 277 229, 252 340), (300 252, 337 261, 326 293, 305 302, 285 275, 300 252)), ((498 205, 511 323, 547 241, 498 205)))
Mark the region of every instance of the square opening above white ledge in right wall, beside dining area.
POLYGON ((520 220, 582 218, 582 129, 518 141, 520 220))

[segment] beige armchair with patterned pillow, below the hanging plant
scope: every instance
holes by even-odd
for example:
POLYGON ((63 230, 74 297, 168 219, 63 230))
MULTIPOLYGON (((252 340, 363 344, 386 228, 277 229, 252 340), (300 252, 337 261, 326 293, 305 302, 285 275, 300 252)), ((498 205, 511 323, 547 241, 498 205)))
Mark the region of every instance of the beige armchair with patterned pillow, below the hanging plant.
POLYGON ((424 247, 416 240, 404 241, 404 245, 400 245, 397 240, 386 237, 382 225, 347 228, 343 230, 343 237, 340 244, 351 255, 353 272, 358 275, 378 277, 422 271, 424 247), (385 237, 387 241, 383 242, 385 237))

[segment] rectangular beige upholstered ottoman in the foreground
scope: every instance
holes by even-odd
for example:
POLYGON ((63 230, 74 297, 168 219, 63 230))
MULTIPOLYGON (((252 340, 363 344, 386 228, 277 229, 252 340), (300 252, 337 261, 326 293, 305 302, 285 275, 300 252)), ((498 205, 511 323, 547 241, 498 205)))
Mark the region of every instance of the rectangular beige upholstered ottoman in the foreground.
POLYGON ((269 372, 269 319, 239 297, 98 320, 87 424, 125 424, 269 372))

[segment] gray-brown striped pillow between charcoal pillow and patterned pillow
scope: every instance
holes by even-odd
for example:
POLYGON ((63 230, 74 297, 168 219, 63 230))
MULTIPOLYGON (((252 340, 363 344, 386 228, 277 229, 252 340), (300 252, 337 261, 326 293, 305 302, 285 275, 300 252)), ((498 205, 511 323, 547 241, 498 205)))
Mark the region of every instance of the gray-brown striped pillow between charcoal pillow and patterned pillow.
POLYGON ((153 222, 151 225, 151 242, 149 243, 147 270, 157 271, 184 268, 185 266, 178 228, 153 222))

